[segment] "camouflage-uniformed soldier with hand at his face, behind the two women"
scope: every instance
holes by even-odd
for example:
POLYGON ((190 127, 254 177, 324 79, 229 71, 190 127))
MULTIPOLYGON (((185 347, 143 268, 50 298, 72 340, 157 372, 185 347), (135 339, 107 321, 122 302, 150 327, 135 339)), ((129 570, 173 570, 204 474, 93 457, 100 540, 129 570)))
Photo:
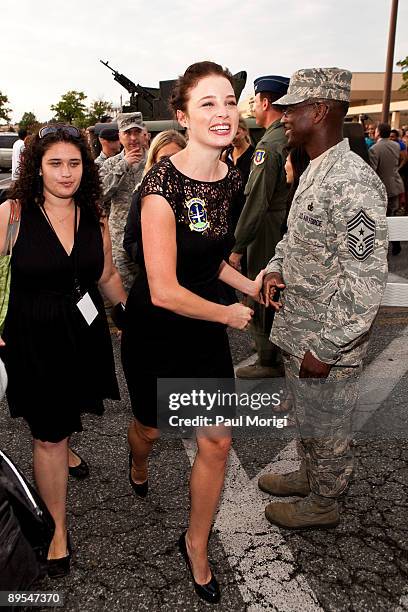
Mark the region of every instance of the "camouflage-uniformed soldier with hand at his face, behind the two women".
POLYGON ((145 166, 143 121, 141 113, 121 113, 117 116, 119 140, 123 151, 107 159, 100 168, 104 201, 111 200, 109 231, 112 257, 126 291, 129 292, 138 272, 123 248, 123 234, 132 194, 140 183, 145 166))

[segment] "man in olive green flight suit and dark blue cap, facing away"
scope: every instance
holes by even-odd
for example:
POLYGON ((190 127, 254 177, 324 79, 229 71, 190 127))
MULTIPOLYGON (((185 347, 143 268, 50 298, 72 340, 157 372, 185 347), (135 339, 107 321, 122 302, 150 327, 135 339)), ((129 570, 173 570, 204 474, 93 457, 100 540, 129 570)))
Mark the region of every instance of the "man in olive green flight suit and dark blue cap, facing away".
MULTIPOLYGON (((251 173, 245 187, 246 202, 235 230, 235 246, 229 263, 239 269, 242 254, 247 249, 248 277, 254 279, 275 252, 282 237, 288 186, 285 175, 287 140, 280 122, 282 110, 274 102, 288 89, 289 79, 264 76, 255 79, 255 118, 266 128, 258 142, 251 163, 251 173)), ((254 316, 251 334, 255 341, 258 361, 237 370, 240 378, 282 376, 279 351, 269 341, 273 321, 272 309, 251 303, 254 316)))

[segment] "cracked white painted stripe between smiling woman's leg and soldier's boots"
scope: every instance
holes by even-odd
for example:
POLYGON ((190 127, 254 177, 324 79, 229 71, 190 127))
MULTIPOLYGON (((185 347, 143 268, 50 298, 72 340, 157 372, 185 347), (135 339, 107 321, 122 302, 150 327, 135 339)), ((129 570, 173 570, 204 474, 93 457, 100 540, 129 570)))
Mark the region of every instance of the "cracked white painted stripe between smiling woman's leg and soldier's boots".
MULTIPOLYGON (((196 446, 183 440, 190 462, 196 446)), ((272 464, 263 472, 268 472, 272 464)), ((285 473, 297 469, 295 444, 290 443, 276 457, 273 471, 285 473)), ((238 588, 248 612, 320 612, 316 596, 306 578, 296 572, 292 552, 278 527, 264 517, 264 507, 271 496, 258 489, 260 474, 252 480, 232 449, 220 508, 214 524, 234 570, 238 588), (295 576, 292 578, 292 575, 295 576)))

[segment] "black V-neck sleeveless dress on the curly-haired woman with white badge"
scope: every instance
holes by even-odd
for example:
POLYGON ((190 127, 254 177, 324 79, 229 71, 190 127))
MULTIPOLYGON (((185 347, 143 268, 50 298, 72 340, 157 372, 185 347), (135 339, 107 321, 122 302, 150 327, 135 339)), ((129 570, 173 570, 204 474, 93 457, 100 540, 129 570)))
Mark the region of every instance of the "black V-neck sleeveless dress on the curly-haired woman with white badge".
POLYGON ((11 288, 2 350, 12 417, 35 438, 58 442, 82 431, 81 413, 103 413, 119 399, 112 344, 97 282, 104 266, 99 221, 81 210, 68 255, 37 206, 22 211, 11 260, 11 288), (75 305, 74 255, 82 294, 97 310, 88 325, 75 305))

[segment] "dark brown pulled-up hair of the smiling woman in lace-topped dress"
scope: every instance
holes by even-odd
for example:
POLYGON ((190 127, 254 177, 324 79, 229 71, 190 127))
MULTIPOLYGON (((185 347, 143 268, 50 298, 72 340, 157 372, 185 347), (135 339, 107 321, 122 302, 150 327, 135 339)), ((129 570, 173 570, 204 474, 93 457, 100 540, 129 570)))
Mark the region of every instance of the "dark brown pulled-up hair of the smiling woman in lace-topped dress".
POLYGON ((223 68, 220 64, 208 61, 191 64, 185 73, 178 78, 170 96, 169 106, 174 115, 178 110, 186 112, 190 89, 195 87, 201 79, 212 75, 222 76, 234 86, 234 80, 228 68, 223 68))

